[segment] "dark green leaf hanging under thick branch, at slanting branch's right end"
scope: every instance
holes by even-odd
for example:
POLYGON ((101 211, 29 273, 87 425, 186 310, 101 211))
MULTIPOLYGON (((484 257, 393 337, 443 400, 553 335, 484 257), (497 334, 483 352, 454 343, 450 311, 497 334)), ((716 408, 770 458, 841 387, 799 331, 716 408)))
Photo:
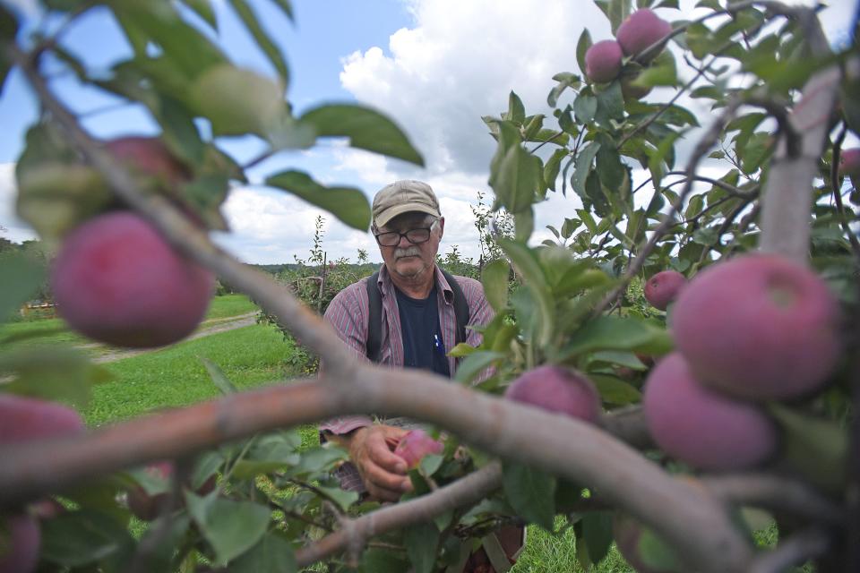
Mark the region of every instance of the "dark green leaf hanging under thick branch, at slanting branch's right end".
POLYGON ((518 463, 503 466, 504 495, 520 517, 553 530, 555 520, 555 477, 518 463))

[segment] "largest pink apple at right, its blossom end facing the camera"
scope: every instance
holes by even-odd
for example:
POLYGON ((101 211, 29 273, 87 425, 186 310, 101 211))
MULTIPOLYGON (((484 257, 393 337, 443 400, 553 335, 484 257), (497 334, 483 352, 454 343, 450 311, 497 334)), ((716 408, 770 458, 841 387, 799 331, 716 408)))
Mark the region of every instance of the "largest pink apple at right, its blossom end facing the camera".
POLYGON ((675 344, 703 384, 773 400, 820 389, 841 350, 839 304, 812 270, 772 254, 718 262, 675 302, 675 344))

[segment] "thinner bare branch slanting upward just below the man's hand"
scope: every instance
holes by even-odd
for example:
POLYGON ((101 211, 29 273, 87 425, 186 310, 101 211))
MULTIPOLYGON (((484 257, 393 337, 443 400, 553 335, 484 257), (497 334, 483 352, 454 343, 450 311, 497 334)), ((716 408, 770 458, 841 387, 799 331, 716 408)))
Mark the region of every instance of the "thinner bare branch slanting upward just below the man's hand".
POLYGON ((454 483, 415 500, 378 509, 363 517, 348 519, 344 526, 320 541, 296 552, 299 567, 323 560, 349 546, 363 546, 374 535, 429 521, 445 511, 471 505, 502 484, 502 465, 492 462, 454 483))

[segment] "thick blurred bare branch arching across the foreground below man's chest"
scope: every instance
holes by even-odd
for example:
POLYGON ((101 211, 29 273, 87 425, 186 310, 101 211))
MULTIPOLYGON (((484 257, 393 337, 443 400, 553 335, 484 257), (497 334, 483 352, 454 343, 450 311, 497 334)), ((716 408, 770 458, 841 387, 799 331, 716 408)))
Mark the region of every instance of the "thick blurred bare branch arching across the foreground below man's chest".
POLYGON ((751 557, 721 502, 667 475, 599 428, 418 371, 355 364, 354 381, 299 382, 231 395, 58 440, 0 449, 0 507, 95 475, 177 458, 224 441, 336 415, 377 412, 434 423, 503 458, 588 484, 673 543, 702 571, 741 571, 751 557), (667 507, 672 507, 667 512, 667 507), (690 535, 690 532, 707 535, 690 535))

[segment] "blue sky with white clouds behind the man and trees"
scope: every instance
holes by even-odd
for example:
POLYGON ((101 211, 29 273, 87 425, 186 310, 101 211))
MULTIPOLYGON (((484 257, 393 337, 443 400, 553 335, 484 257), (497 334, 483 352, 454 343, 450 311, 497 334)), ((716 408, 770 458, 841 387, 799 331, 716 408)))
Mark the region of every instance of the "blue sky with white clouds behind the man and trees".
MULTIPOLYGON (((273 75, 224 0, 211 0, 219 20, 217 41, 234 62, 273 75)), ((34 0, 0 0, 39 22, 34 0)), ((794 0, 789 4, 810 4, 794 0)), ((385 184, 403 178, 421 179, 434 187, 445 217, 440 252, 453 245, 477 260, 477 232, 470 207, 477 193, 492 197, 487 184, 495 141, 482 115, 499 115, 508 94, 522 98, 527 113, 550 114, 546 94, 558 72, 579 73, 576 43, 581 30, 591 37, 610 38, 608 22, 588 0, 294 0, 295 25, 283 18, 271 0, 251 0, 262 21, 286 54, 291 83, 288 99, 300 113, 322 103, 352 101, 375 107, 394 119, 425 158, 418 168, 397 159, 353 150, 338 142, 304 151, 283 151, 249 172, 251 184, 231 190, 223 211, 231 232, 215 240, 240 260, 250 263, 305 259, 312 245, 314 220, 323 215, 323 249, 328 258, 355 261, 358 249, 381 261, 369 232, 341 224, 333 216, 260 182, 286 168, 309 172, 324 184, 347 184, 366 192, 368 200, 385 184)), ((682 10, 659 10, 669 21, 695 17, 694 0, 682 10)), ((853 21, 855 0, 830 0, 821 21, 831 43, 843 41, 853 21)), ((91 10, 73 24, 64 45, 94 69, 130 55, 116 24, 103 9, 91 10)), ((79 113, 84 126, 100 138, 157 132, 140 109, 116 107, 116 99, 82 88, 68 78, 52 88, 79 113)), ((649 100, 665 100, 668 90, 655 90, 649 100)), ((565 103, 565 100, 562 100, 565 103)), ((684 99, 708 124, 710 111, 684 99)), ((0 93, 0 236, 20 242, 35 235, 14 215, 14 161, 23 134, 38 111, 21 76, 10 75, 0 93)), ((547 122, 547 124, 550 124, 547 122)), ((694 141, 691 134, 688 141, 694 141)), ((219 140, 239 163, 261 150, 253 138, 219 140)), ((682 153, 683 155, 683 153, 682 153)), ((713 175, 722 175, 718 167, 713 175)), ((637 174, 634 173, 634 179, 637 174)), ((644 178, 644 174, 639 174, 644 178)), ((563 218, 581 207, 575 195, 550 193, 538 205, 533 240, 549 238, 546 225, 560 227, 563 218)), ((486 200, 485 200, 486 201, 486 200)))

